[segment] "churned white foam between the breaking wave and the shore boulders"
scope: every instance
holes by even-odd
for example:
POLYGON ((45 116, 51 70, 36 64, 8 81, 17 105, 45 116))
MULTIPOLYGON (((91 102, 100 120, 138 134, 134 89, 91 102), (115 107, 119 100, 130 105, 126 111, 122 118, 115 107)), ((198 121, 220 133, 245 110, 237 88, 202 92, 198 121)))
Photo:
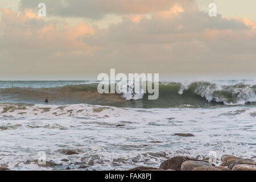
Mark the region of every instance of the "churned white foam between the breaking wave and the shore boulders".
POLYGON ((256 154, 254 106, 127 109, 92 105, 0 105, 0 163, 11 169, 159 167, 175 155, 256 154), (174 133, 192 133, 183 138, 174 133), (60 150, 76 150, 65 155, 60 150), (47 166, 37 164, 45 151, 47 166))

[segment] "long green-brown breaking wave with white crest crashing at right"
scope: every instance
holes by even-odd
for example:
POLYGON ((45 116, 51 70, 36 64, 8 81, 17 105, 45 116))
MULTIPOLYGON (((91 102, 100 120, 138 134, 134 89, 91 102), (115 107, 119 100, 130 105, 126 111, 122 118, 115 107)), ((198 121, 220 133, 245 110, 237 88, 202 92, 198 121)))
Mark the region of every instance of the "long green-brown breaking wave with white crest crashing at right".
POLYGON ((121 90, 100 94, 98 83, 65 85, 52 88, 1 88, 1 102, 42 104, 92 104, 116 107, 163 108, 179 106, 245 105, 256 103, 256 85, 247 82, 220 84, 209 81, 160 82, 158 100, 148 100, 148 93, 132 98, 121 90))

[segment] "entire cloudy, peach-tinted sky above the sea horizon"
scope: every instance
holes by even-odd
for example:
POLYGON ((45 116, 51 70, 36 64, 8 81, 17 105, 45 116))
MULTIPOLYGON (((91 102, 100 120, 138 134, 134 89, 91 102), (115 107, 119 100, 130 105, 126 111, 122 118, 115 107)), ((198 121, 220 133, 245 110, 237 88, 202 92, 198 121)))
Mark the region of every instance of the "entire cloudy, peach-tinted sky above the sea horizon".
POLYGON ((110 68, 255 78, 255 7, 255 0, 1 0, 0 80, 96 80, 110 68), (42 2, 46 17, 38 16, 42 2))

